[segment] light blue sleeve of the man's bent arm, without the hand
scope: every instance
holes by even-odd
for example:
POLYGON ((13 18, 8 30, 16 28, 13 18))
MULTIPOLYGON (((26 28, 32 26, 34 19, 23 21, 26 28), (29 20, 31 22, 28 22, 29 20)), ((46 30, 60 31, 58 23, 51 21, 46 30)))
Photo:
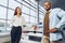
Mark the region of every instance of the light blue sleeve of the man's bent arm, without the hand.
POLYGON ((57 30, 63 30, 61 27, 63 27, 65 25, 65 11, 61 10, 57 15, 61 17, 61 20, 55 26, 55 28, 57 28, 57 30))

